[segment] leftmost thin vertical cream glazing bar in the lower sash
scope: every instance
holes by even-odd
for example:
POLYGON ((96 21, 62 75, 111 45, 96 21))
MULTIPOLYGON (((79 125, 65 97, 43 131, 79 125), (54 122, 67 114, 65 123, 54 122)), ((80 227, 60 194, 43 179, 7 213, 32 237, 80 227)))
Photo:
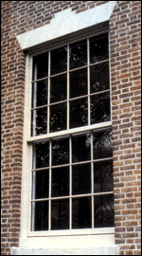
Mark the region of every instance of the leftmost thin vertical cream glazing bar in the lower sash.
POLYGON ((52 144, 49 140, 49 215, 48 215, 48 229, 51 230, 51 164, 52 164, 52 144))

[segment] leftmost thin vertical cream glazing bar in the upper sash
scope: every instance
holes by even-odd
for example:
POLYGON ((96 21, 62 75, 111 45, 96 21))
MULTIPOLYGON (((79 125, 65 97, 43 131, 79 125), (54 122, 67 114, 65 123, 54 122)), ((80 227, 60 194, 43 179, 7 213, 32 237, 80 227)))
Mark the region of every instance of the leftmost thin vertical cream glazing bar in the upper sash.
POLYGON ((50 124, 50 61, 51 61, 51 55, 50 51, 48 52, 48 86, 47 86, 47 134, 49 134, 49 124, 50 124))

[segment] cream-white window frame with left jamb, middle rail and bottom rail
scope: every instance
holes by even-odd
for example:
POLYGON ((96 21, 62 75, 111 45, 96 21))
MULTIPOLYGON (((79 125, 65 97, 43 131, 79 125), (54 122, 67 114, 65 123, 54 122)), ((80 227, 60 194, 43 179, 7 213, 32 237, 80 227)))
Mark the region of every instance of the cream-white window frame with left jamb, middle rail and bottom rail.
MULTIPOLYGON (((99 34, 104 34, 109 31, 106 29, 99 34)), ((96 33, 91 33, 90 37, 97 36, 96 33)), ((88 36, 88 35, 87 35, 88 36)), ((87 39, 86 35, 80 37, 80 40, 87 39)), ((68 44, 78 42, 79 39, 73 39, 68 44)), ((30 136, 30 108, 31 108, 31 81, 32 81, 32 56, 41 54, 45 51, 55 49, 56 47, 66 46, 66 41, 61 45, 49 46, 41 51, 27 53, 26 55, 26 100, 25 100, 25 124, 24 124, 24 147, 23 147, 23 185, 22 185, 22 214, 21 214, 21 235, 20 247, 65 247, 67 243, 69 247, 92 246, 97 243, 97 246, 114 246, 115 245, 115 228, 99 228, 99 229, 68 229, 68 230, 51 230, 51 231, 30 231, 31 225, 31 212, 30 200, 32 190, 32 142, 44 141, 46 138, 63 137, 65 135, 77 134, 79 132, 87 132, 96 130, 98 128, 112 127, 112 111, 111 120, 88 125, 80 128, 68 129, 61 132, 46 134, 42 136, 30 136), (54 238, 54 239, 53 239, 54 238), (56 241, 56 242, 55 242, 56 241), (78 242, 77 242, 78 241, 78 242)), ((110 60, 110 46, 109 46, 109 60, 110 60)), ((110 62, 109 62, 110 65, 110 62)), ((109 70, 111 70, 109 66, 109 70)), ((110 73, 110 109, 111 105, 111 73, 110 73)), ((111 192, 112 193, 112 192, 111 192)), ((102 193, 101 193, 102 194, 102 193)), ((108 194, 108 193, 107 193, 108 194)))

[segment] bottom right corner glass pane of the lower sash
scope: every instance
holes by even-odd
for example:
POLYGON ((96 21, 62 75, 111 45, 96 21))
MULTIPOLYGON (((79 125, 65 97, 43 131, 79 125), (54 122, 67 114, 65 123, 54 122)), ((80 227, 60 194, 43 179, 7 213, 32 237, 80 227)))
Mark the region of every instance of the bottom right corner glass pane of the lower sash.
POLYGON ((95 196, 95 228, 114 227, 114 195, 95 196))

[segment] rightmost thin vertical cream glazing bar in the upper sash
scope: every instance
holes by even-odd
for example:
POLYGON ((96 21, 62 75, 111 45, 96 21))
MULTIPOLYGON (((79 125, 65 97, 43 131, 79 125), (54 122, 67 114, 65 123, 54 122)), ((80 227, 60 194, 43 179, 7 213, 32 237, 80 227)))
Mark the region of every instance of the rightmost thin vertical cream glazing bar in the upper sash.
POLYGON ((89 48, 89 38, 87 39, 87 85, 88 85, 88 125, 90 125, 90 48, 89 48))

